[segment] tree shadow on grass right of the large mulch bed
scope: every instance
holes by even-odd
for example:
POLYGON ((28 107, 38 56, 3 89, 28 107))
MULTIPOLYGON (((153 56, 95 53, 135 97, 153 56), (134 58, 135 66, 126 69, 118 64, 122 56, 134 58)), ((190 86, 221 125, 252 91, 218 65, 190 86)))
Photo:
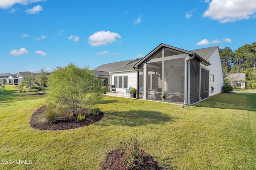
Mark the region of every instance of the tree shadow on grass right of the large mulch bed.
POLYGON ((105 117, 99 125, 119 125, 119 126, 143 126, 149 124, 162 124, 174 121, 170 115, 164 115, 158 111, 130 110, 121 112, 106 112, 105 117))

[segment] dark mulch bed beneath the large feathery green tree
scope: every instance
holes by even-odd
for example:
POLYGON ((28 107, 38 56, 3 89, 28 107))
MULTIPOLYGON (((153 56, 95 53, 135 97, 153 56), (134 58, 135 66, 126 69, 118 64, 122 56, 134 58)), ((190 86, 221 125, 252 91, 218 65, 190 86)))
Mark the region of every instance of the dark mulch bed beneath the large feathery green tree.
MULTIPOLYGON (((102 117, 104 116, 103 113, 101 113, 98 116, 88 115, 88 116, 86 116, 85 120, 80 121, 75 116, 73 116, 69 111, 66 111, 66 113, 64 113, 64 115, 61 116, 61 119, 56 123, 52 123, 52 124, 38 123, 36 121, 36 116, 44 111, 44 107, 45 106, 38 108, 31 117, 30 125, 34 129, 53 130, 53 131, 75 129, 78 127, 84 127, 84 126, 91 125, 91 124, 99 121, 100 119, 102 119, 102 117)), ((86 110, 84 110, 84 112, 85 111, 86 110)))

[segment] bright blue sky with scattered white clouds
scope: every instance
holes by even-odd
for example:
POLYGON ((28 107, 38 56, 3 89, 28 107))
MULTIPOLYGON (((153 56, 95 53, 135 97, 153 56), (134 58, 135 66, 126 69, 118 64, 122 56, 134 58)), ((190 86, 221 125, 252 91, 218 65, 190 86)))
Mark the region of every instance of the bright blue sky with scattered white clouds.
POLYGON ((0 73, 256 42, 256 0, 0 0, 0 73))

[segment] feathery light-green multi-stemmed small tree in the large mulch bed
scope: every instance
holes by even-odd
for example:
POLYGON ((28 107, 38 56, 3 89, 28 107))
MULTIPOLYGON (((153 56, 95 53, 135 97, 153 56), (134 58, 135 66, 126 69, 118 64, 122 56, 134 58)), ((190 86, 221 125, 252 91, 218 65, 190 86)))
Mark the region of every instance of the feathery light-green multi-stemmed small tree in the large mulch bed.
POLYGON ((48 102, 66 106, 74 116, 82 107, 102 99, 102 89, 94 72, 73 63, 57 66, 49 76, 48 85, 48 102))

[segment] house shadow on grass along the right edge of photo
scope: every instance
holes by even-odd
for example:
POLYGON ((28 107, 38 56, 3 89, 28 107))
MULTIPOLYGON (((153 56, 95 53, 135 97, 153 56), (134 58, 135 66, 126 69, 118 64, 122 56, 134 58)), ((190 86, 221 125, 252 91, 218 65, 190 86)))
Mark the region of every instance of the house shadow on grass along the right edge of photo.
POLYGON ((195 106, 256 111, 254 101, 256 101, 256 94, 221 93, 216 96, 212 96, 195 106))

